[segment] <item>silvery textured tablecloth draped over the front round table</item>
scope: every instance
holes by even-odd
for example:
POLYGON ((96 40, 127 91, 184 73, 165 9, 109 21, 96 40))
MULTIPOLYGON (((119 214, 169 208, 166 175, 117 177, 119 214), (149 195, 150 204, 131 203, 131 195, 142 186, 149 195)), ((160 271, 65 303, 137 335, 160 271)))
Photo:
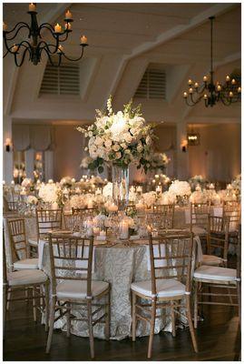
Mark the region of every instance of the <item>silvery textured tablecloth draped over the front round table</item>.
MULTIPOLYGON (((48 243, 43 243, 42 268, 50 277, 50 258, 48 243)), ((194 260, 194 259, 193 259, 194 260)), ((194 265, 194 262, 193 262, 194 265)), ((139 243, 131 243, 125 246, 122 243, 106 245, 104 242, 94 241, 94 268, 93 279, 109 282, 111 285, 111 339, 124 339, 131 336, 132 327, 132 303, 131 284, 151 278, 149 268, 148 246, 139 243), (103 244, 102 244, 103 243, 103 244)), ((161 319, 156 319, 155 334, 161 330, 171 331, 171 315, 169 308, 160 308, 157 314, 161 319), (166 311, 167 309, 167 311, 166 311)), ((79 318, 83 315, 83 308, 73 306, 72 314, 79 318)), ((181 325, 185 324, 181 321, 181 325)), ((56 321, 54 328, 66 330, 65 318, 56 321)), ((71 332, 74 335, 88 337, 87 325, 79 320, 72 321, 71 332)), ((104 325, 97 324, 93 328, 95 338, 105 339, 104 325)), ((148 322, 139 321, 136 336, 148 336, 150 326, 148 322)))

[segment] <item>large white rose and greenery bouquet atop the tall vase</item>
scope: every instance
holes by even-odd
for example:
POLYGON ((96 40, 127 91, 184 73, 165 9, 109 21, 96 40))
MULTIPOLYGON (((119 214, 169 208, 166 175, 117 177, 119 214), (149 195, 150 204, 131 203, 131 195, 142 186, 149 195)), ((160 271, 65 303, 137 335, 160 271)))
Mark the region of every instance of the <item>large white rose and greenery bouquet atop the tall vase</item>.
POLYGON ((77 130, 88 140, 93 161, 89 169, 103 172, 103 166, 110 163, 126 169, 131 163, 147 172, 151 167, 151 143, 154 125, 146 124, 141 114, 141 106, 132 108, 132 100, 123 111, 114 113, 112 97, 107 101, 105 112, 96 110, 96 120, 92 126, 78 126, 77 130))

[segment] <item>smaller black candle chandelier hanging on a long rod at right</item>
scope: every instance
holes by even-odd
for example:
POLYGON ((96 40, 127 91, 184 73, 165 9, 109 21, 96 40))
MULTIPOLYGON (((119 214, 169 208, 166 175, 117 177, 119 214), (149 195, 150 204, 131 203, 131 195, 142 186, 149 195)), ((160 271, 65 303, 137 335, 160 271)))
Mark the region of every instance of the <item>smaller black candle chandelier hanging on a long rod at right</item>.
POLYGON ((193 81, 189 79, 189 90, 183 94, 188 106, 195 106, 201 99, 204 100, 206 107, 212 107, 219 101, 221 101, 225 106, 229 106, 240 101, 240 82, 236 78, 231 79, 230 76, 226 76, 226 80, 223 85, 221 85, 218 81, 214 81, 212 56, 212 32, 214 19, 215 16, 210 16, 210 76, 203 77, 203 84, 201 86, 199 86, 198 82, 193 83, 193 81))

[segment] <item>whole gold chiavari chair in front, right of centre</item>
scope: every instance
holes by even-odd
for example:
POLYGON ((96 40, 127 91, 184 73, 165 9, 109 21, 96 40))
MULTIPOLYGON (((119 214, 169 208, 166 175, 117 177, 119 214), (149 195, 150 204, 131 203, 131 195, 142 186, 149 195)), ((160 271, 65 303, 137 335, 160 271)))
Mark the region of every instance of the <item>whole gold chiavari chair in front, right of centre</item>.
POLYGON ((132 340, 135 341, 137 320, 149 322, 148 359, 151 358, 155 319, 161 317, 156 316, 157 308, 171 308, 173 336, 175 314, 184 316, 182 308, 185 308, 184 318, 188 320, 192 344, 198 352, 190 313, 192 237, 192 234, 166 234, 152 240, 150 236, 151 279, 132 283, 132 340), (149 300, 149 303, 144 304, 142 298, 149 300))

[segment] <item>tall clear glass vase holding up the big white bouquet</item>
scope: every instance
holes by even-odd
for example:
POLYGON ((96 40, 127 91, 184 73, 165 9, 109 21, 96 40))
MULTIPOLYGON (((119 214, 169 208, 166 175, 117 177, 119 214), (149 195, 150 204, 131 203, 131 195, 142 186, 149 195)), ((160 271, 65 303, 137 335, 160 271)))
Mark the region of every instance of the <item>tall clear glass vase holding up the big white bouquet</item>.
POLYGON ((112 165, 112 198, 119 210, 124 210, 129 202, 129 167, 112 165))

